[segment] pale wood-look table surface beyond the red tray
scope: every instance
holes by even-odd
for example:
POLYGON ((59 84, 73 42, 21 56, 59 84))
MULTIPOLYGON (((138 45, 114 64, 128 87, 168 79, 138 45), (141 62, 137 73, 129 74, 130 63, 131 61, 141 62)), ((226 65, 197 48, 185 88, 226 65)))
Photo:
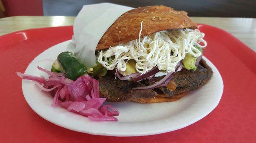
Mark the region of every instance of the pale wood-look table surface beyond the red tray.
MULTIPOLYGON (((221 28, 256 51, 256 18, 191 17, 196 23, 221 28)), ((75 17, 17 16, 0 19, 0 36, 30 28, 73 25, 75 17)), ((221 35, 220 35, 221 36, 221 35)))

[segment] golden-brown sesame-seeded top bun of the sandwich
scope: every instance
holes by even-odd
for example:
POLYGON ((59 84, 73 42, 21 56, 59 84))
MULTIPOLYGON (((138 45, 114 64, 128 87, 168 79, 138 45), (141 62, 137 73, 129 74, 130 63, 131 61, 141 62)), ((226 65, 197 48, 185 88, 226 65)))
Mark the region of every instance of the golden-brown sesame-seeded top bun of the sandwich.
POLYGON ((142 21, 141 36, 167 29, 197 28, 185 11, 175 11, 162 5, 139 7, 122 14, 99 40, 96 49, 108 49, 110 46, 138 39, 142 21))

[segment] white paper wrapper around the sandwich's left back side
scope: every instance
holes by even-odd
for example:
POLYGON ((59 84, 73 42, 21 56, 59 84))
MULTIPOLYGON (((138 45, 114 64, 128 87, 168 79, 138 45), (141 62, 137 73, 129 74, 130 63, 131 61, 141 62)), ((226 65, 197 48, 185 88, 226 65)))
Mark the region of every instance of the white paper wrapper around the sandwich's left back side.
POLYGON ((67 50, 76 54, 87 67, 96 63, 96 46, 118 17, 133 8, 112 3, 85 5, 74 21, 74 35, 67 50))

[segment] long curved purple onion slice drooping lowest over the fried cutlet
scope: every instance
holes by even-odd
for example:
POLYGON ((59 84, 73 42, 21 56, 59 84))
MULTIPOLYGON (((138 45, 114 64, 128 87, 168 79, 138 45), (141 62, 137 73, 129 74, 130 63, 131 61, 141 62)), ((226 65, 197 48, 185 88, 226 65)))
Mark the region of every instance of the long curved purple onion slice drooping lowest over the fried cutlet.
POLYGON ((165 85, 169 84, 169 82, 172 80, 172 77, 175 75, 175 73, 179 69, 181 63, 182 63, 182 60, 177 64, 174 72, 168 73, 163 79, 161 79, 157 83, 149 85, 149 86, 145 86, 145 87, 134 87, 134 88, 132 88, 132 90, 150 90, 150 89, 154 89, 154 88, 157 88, 160 86, 165 86, 165 85))

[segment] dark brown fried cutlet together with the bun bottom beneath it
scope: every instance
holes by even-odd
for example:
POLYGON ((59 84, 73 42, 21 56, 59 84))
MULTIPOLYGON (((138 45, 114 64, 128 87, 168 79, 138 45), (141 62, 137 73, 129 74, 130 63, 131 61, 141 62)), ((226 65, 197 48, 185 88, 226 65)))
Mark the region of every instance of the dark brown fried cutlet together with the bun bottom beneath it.
MULTIPOLYGON (((206 84, 211 79, 212 73, 212 69, 202 59, 197 70, 182 70, 175 74, 173 80, 177 84, 177 88, 171 91, 167 87, 158 87, 153 90, 131 90, 133 87, 142 87, 151 83, 148 80, 137 83, 121 81, 118 78, 115 79, 114 74, 109 72, 106 76, 99 78, 99 93, 102 98, 107 98, 107 101, 110 102, 130 100, 141 103, 175 101, 181 98, 180 93, 195 90, 206 84), (169 99, 172 97, 175 99, 169 99)), ((163 77, 155 79, 160 80, 161 78, 163 77)))

